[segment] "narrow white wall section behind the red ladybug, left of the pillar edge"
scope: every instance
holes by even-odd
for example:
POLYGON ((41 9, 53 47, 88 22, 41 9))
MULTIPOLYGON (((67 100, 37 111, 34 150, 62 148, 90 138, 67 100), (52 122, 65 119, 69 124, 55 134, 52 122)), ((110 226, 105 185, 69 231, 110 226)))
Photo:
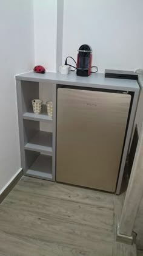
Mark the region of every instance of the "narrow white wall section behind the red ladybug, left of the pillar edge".
POLYGON ((35 65, 56 71, 57 0, 34 0, 35 65))

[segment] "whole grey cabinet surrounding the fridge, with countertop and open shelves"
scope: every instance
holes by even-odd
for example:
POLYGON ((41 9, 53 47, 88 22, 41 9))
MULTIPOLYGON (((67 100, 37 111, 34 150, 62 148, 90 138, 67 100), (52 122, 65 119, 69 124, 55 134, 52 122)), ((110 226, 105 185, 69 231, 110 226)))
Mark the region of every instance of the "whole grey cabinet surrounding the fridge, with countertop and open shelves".
POLYGON ((104 74, 99 73, 91 74, 89 77, 79 77, 76 76, 75 72, 71 72, 68 76, 65 76, 60 73, 52 72, 36 74, 32 71, 16 76, 21 167, 24 169, 24 174, 55 181, 56 89, 64 86, 68 88, 81 87, 81 90, 86 88, 86 90, 130 92, 130 118, 128 118, 128 129, 126 131, 116 188, 116 194, 119 194, 139 97, 139 85, 135 80, 105 78, 104 74), (39 87, 41 83, 46 87, 46 90, 41 88, 44 102, 45 99, 53 101, 53 118, 47 115, 45 106, 42 107, 40 115, 33 113, 32 99, 40 98, 39 87), (47 95, 47 87, 50 88, 52 94, 47 95), (52 126, 52 129, 49 130, 49 132, 42 132, 41 127, 47 125, 52 126))

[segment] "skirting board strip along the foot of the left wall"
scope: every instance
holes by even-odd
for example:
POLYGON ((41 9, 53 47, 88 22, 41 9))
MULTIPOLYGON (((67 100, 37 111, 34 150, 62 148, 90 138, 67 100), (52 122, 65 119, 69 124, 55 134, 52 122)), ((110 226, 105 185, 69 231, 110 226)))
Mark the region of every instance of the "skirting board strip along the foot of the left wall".
POLYGON ((23 170, 21 170, 18 175, 15 177, 15 179, 12 180, 12 182, 5 188, 5 190, 0 194, 0 204, 5 199, 5 197, 10 193, 10 191, 15 187, 16 183, 21 179, 23 176, 23 170))

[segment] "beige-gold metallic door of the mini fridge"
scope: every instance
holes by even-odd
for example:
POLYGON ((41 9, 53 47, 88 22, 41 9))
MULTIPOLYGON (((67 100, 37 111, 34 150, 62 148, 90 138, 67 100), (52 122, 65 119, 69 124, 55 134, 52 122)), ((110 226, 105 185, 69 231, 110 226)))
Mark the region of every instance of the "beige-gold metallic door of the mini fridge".
POLYGON ((56 180, 116 190, 131 96, 58 88, 56 180))

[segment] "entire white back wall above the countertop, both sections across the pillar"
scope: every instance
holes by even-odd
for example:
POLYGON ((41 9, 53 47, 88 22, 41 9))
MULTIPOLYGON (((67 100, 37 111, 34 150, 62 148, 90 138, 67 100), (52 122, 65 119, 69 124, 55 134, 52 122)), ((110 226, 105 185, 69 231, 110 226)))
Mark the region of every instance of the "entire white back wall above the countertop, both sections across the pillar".
POLYGON ((56 71, 67 55, 76 59, 79 46, 87 43, 99 72, 143 68, 142 0, 64 0, 61 38, 62 2, 34 0, 35 65, 56 71))

